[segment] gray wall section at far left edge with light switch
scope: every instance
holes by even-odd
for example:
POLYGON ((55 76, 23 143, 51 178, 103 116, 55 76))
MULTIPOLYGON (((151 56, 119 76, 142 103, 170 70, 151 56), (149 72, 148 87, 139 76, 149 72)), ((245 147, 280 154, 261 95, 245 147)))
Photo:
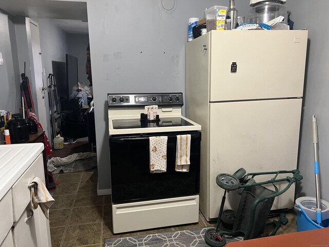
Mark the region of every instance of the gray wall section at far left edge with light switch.
POLYGON ((21 107, 20 72, 13 17, 0 10, 0 52, 4 65, 0 66, 0 109, 13 113, 21 107))

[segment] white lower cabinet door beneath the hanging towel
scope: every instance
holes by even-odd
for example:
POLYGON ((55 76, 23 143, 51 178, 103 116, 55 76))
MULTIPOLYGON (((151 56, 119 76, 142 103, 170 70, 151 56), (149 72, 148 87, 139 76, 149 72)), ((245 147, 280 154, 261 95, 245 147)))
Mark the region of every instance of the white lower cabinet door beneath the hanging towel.
MULTIPOLYGON (((39 207, 36 210, 41 210, 39 207)), ((15 247, 43 246, 38 214, 28 205, 20 219, 14 223, 15 247), (33 212, 33 213, 32 213, 33 212)))

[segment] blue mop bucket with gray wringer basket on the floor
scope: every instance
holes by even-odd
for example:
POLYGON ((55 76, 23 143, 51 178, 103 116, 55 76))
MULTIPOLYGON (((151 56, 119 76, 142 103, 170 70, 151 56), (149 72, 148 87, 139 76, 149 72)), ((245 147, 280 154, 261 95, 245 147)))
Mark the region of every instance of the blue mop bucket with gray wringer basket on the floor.
POLYGON ((316 223, 316 203, 317 200, 315 197, 300 197, 296 199, 295 210, 297 211, 297 232, 328 227, 329 203, 321 200, 321 225, 316 223))

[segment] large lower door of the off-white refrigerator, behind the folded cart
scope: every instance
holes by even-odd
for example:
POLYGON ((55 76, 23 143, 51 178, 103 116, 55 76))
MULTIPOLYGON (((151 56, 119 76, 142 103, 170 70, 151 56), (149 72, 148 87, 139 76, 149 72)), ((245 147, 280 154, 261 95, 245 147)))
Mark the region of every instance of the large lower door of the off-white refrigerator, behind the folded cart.
MULTIPOLYGON (((301 105, 302 99, 210 103, 209 218, 218 216, 224 193, 215 182, 217 174, 241 167, 247 173, 297 168, 301 105)), ((275 199, 272 209, 293 207, 294 196, 295 184, 275 199)), ((239 201, 231 191, 226 206, 236 209, 239 201)))

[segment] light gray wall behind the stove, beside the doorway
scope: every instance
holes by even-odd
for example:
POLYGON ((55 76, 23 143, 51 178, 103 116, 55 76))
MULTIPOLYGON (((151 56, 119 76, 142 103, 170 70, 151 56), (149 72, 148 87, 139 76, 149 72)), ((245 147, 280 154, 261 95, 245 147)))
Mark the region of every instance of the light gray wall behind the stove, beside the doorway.
MULTIPOLYGON (((247 15, 249 1, 237 0, 247 15)), ((185 93, 185 44, 189 17, 226 0, 87 1, 95 98, 99 189, 109 189, 107 93, 185 93), (175 2, 172 11, 163 4, 175 2)))

